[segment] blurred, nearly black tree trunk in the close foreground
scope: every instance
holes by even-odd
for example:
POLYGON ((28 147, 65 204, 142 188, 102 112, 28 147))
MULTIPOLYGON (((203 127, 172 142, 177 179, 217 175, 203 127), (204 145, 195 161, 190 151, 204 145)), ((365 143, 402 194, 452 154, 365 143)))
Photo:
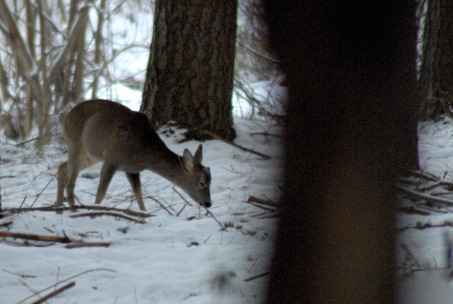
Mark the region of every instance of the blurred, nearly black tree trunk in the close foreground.
POLYGON ((396 175, 416 168, 415 1, 265 1, 288 83, 267 303, 393 303, 396 175))

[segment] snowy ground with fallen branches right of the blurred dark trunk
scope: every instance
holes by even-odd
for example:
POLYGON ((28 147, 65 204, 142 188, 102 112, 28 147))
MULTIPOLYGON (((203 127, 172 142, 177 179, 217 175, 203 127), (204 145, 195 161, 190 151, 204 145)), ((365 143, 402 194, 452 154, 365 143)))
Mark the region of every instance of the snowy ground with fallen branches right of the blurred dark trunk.
POLYGON ((453 120, 419 124, 421 173, 401 180, 398 303, 452 303, 453 120))

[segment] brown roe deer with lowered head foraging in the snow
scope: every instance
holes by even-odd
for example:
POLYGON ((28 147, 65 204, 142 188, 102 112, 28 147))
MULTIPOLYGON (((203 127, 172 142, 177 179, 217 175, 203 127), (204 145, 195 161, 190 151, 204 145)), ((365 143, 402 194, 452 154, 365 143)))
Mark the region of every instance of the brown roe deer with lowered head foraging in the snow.
POLYGON ((116 171, 131 182, 140 210, 144 208, 140 172, 148 169, 183 189, 193 201, 211 206, 211 173, 202 166, 202 145, 192 156, 187 149, 180 157, 163 143, 147 115, 107 100, 84 101, 66 114, 63 135, 68 161, 59 166, 57 205, 63 205, 64 188, 74 209, 74 187, 84 168, 103 161, 96 201, 103 201, 116 171))

